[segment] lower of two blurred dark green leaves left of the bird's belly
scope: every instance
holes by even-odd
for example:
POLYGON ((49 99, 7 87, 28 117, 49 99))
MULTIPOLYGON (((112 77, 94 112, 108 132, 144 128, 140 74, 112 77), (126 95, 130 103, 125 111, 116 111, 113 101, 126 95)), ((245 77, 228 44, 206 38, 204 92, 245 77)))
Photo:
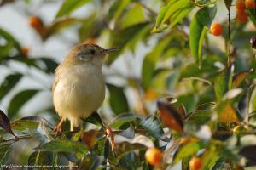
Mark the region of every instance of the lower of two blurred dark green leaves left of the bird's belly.
POLYGON ((38 94, 38 89, 28 89, 23 90, 15 95, 13 99, 9 102, 8 107, 8 116, 9 119, 12 119, 14 116, 18 114, 18 111, 20 111, 21 107, 26 104, 26 102, 29 99, 32 99, 32 97, 38 94))

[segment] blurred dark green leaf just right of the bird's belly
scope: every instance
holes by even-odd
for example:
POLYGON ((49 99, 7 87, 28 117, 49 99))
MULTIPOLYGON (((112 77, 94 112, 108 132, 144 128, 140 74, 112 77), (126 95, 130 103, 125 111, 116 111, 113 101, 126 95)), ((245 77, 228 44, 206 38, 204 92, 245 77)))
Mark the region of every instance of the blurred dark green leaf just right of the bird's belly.
POLYGON ((109 103, 112 111, 117 115, 129 111, 124 88, 114 86, 113 84, 107 84, 107 87, 110 93, 109 103))

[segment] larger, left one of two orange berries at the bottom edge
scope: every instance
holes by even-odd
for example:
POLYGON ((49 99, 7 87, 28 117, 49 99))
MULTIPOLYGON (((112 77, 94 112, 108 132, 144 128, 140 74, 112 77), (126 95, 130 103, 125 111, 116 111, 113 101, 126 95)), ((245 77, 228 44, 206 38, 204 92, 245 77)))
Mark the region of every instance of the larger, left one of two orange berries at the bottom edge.
POLYGON ((149 148, 145 153, 146 161, 153 166, 160 165, 160 163, 163 161, 163 156, 163 152, 156 148, 149 148))

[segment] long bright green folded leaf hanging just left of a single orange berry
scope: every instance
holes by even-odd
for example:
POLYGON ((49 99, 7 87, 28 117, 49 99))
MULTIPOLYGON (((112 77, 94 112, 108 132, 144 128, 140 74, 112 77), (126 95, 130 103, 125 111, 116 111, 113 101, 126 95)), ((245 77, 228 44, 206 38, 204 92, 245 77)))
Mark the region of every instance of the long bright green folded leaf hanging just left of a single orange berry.
POLYGON ((212 20, 216 14, 216 7, 201 8, 191 20, 189 26, 189 46, 191 54, 201 67, 202 45, 207 33, 207 26, 211 26, 212 20))

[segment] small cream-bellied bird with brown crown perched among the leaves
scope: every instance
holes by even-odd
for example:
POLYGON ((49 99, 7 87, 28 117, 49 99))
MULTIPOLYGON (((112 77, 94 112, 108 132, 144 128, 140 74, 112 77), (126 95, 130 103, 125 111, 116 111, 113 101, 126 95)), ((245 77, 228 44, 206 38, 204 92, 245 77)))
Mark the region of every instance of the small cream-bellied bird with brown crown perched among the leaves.
POLYGON ((61 122, 55 127, 61 132, 61 123, 70 121, 70 130, 82 126, 81 118, 96 111, 105 98, 105 82, 102 76, 104 56, 116 48, 104 49, 96 44, 83 43, 71 49, 66 59, 55 70, 52 87, 55 111, 61 122))

